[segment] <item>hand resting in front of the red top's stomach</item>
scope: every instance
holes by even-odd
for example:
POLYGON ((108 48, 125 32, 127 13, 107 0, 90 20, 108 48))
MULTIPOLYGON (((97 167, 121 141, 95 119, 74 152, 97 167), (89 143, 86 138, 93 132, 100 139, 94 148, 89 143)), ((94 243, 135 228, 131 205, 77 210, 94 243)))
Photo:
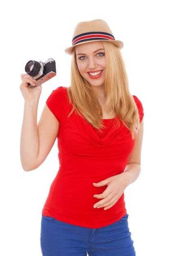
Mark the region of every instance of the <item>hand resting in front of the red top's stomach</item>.
POLYGON ((128 186, 127 176, 125 173, 120 173, 101 182, 93 183, 93 186, 96 187, 105 185, 108 187, 102 194, 93 195, 95 198, 104 198, 94 204, 94 206, 97 205, 97 208, 105 207, 104 210, 111 208, 124 193, 124 190, 128 186))

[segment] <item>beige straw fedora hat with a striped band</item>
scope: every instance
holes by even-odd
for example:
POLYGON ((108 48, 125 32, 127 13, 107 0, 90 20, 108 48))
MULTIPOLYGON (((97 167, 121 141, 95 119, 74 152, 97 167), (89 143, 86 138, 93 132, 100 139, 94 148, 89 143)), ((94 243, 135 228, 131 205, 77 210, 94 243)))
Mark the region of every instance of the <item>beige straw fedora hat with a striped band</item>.
POLYGON ((120 49, 124 46, 123 42, 115 40, 115 37, 113 36, 113 33, 106 21, 95 19, 79 22, 74 29, 72 46, 66 48, 64 52, 72 55, 72 49, 75 45, 101 40, 107 40, 120 49))

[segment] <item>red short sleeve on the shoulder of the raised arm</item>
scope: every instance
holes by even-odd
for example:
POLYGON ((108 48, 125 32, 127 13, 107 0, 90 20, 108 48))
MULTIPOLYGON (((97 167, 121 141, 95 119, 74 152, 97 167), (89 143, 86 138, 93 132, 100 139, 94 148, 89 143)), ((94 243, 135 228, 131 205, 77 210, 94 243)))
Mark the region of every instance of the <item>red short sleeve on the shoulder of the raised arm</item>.
POLYGON ((59 122, 62 121, 64 115, 64 99, 64 88, 60 86, 53 90, 46 100, 46 105, 59 122))

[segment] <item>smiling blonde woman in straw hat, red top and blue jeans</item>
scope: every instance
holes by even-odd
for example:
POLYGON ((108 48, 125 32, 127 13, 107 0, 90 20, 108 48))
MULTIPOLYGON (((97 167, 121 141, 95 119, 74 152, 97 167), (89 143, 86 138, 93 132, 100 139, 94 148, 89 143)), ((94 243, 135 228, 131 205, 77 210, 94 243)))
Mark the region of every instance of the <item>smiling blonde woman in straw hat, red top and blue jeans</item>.
POLYGON ((44 162, 56 137, 59 150, 60 168, 42 209, 44 256, 135 255, 124 190, 141 170, 144 112, 129 92, 122 47, 104 20, 79 22, 65 49, 72 55, 71 86, 52 91, 38 126, 41 87, 26 88, 33 78, 22 76, 24 170, 44 162))

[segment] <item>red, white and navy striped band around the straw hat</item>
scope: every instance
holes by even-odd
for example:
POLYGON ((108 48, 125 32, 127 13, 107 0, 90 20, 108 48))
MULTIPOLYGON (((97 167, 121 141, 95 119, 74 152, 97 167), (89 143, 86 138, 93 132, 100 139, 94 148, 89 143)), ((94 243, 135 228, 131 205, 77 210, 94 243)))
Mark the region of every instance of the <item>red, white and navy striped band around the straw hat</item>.
POLYGON ((99 31, 87 32, 87 33, 83 33, 83 34, 79 34, 78 36, 75 36, 72 39, 72 46, 76 45, 77 43, 82 43, 90 40, 115 40, 115 38, 112 34, 109 34, 106 32, 99 32, 99 31))

